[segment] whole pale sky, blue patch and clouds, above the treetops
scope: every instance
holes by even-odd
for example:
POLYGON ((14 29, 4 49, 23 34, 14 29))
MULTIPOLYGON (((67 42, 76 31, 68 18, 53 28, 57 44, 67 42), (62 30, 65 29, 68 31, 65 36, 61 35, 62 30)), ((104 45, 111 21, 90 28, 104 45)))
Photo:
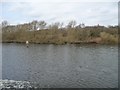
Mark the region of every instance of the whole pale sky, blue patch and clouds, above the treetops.
POLYGON ((1 21, 22 24, 44 20, 48 24, 76 20, 85 25, 118 25, 119 0, 2 0, 1 21))

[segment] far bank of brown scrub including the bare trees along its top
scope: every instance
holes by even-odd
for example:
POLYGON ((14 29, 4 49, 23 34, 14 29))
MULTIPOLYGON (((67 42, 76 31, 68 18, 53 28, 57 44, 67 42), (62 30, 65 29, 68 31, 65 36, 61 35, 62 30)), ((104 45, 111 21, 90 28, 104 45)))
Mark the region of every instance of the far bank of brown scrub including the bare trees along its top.
MULTIPOLYGON (((31 23, 18 25, 5 25, 2 27, 2 42, 17 42, 40 44, 81 44, 81 43, 98 43, 98 44, 117 44, 118 26, 76 26, 75 21, 71 21, 64 28, 63 23, 53 23, 47 25, 45 21, 32 21, 31 23), (33 28, 38 24, 41 28, 33 28), (47 25, 47 26, 46 26, 47 25), (45 29, 47 27, 47 29, 45 29)), ((1 35, 1 34, 0 34, 1 35)))

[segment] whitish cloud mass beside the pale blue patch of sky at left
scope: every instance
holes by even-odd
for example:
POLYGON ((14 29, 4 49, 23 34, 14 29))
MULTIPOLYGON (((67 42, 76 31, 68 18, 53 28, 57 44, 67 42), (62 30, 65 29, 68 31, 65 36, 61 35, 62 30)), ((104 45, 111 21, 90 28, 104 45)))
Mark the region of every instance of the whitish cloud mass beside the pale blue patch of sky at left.
POLYGON ((44 19, 48 22, 76 20, 86 24, 117 24, 117 3, 112 2, 56 2, 56 3, 18 3, 11 10, 22 10, 30 19, 44 19))

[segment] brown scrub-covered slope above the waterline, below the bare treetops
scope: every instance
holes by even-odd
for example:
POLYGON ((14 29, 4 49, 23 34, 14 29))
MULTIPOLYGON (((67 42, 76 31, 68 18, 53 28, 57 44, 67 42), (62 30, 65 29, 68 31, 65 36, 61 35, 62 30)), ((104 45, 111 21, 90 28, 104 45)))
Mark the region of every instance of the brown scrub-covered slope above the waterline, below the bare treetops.
POLYGON ((3 32, 2 42, 42 44, 66 44, 66 43, 98 43, 117 44, 118 32, 116 30, 95 30, 95 29, 65 29, 65 30, 40 30, 40 31, 16 31, 3 32))

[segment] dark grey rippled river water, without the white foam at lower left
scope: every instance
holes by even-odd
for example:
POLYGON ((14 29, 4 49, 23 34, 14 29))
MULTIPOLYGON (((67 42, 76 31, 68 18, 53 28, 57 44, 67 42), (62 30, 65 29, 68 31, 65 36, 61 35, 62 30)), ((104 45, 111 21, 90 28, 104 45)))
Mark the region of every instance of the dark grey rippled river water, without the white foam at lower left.
POLYGON ((118 87, 118 48, 110 45, 3 44, 2 78, 44 88, 118 87))

